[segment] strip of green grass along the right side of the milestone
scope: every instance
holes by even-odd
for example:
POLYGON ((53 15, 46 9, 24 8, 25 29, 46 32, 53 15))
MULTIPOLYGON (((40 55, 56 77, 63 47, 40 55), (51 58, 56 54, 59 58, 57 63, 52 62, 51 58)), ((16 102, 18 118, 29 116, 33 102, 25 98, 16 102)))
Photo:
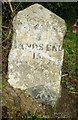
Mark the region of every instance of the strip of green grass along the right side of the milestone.
POLYGON ((78 35, 72 32, 72 26, 67 24, 67 33, 64 39, 64 62, 62 74, 67 74, 66 78, 62 79, 69 92, 78 92, 78 67, 77 67, 77 48, 78 35))

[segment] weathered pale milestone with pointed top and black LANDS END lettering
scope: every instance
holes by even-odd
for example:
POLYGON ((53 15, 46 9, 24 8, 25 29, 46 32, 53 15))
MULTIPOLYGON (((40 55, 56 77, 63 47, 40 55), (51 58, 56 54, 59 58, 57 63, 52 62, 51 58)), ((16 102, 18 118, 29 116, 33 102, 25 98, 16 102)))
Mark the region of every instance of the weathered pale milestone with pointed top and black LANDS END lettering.
POLYGON ((20 12, 13 20, 13 41, 8 58, 8 82, 29 91, 41 102, 55 105, 60 97, 63 19, 39 4, 20 12))

